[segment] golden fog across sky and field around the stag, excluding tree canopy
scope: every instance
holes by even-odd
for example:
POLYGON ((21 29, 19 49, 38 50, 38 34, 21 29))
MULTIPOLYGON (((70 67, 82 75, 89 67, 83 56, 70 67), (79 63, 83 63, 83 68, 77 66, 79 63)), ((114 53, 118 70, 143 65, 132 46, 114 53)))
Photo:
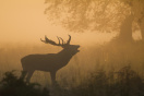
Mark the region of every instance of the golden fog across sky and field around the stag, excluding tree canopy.
MULTIPOLYGON (((120 31, 72 33, 47 20, 44 15, 43 1, 14 0, 8 3, 5 0, 0 1, 0 7, 1 75, 11 70, 22 71, 21 59, 27 55, 57 53, 62 50, 61 47, 41 43, 40 38, 45 38, 45 35, 56 43, 58 43, 57 36, 67 41, 68 35, 71 35, 71 44, 81 46, 80 52, 58 71, 57 81, 62 86, 72 86, 87 81, 91 74, 98 70, 118 71, 127 65, 131 65, 133 70, 144 75, 144 45, 139 29, 132 32, 134 39, 132 41, 127 41, 124 37, 122 37, 124 40, 121 40, 118 37, 120 31)), ((121 28, 121 31, 123 33, 129 31, 129 25, 127 27, 128 29, 121 28)), ((32 82, 50 84, 50 74, 36 71, 32 82)))

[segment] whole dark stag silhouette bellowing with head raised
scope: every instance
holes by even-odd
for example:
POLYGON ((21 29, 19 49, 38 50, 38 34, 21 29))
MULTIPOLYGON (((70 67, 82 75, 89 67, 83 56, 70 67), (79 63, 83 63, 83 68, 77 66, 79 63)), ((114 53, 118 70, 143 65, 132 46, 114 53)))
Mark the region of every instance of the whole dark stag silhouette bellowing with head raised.
POLYGON ((49 39, 45 36, 45 40, 40 40, 45 44, 62 47, 63 49, 58 53, 46 53, 46 55, 28 55, 21 59, 23 71, 25 72, 26 82, 29 83, 33 73, 38 71, 50 72, 51 83, 56 82, 56 73, 61 68, 65 67, 74 55, 80 50, 80 45, 70 45, 71 36, 67 43, 61 37, 58 37, 59 44, 49 39))

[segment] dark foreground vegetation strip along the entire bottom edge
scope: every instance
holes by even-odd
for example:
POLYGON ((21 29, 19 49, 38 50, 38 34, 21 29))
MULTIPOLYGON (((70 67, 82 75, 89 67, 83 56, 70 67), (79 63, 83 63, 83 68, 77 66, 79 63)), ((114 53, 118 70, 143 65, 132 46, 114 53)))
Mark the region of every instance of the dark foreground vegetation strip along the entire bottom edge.
MULTIPOLYGON (((26 83, 24 77, 24 72, 20 77, 5 72, 0 82, 0 96, 49 96, 47 88, 26 83)), ((56 84, 50 93, 50 96, 144 96, 144 81, 131 67, 124 67, 118 72, 99 70, 76 87, 64 88, 56 84)))

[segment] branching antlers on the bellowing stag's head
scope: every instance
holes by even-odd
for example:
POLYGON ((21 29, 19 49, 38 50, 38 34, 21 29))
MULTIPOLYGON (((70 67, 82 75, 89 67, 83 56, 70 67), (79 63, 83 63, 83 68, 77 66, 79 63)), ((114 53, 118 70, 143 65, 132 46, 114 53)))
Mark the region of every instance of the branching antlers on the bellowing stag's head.
POLYGON ((67 41, 67 44, 63 43, 63 39, 61 37, 58 37, 59 44, 55 43, 53 40, 49 39, 47 36, 45 36, 45 40, 43 40, 40 38, 41 41, 46 43, 46 44, 51 44, 53 46, 61 46, 64 47, 65 45, 70 45, 70 40, 71 40, 71 36, 69 35, 69 40, 67 41), (60 40, 62 41, 62 44, 60 44, 60 40))

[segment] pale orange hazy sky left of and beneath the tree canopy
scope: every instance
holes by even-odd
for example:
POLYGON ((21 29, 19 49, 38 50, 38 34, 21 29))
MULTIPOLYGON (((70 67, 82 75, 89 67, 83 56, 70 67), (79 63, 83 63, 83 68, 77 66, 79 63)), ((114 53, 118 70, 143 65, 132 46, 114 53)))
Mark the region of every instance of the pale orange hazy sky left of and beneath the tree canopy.
MULTIPOLYGON (((68 31, 52 26, 44 14, 45 0, 0 0, 0 43, 36 41, 45 35, 57 40, 56 36, 68 38, 68 31)), ((72 41, 91 44, 109 39, 111 35, 99 33, 73 34, 72 41), (75 37, 74 37, 75 36, 75 37), (80 40, 81 39, 81 40, 80 40)))

